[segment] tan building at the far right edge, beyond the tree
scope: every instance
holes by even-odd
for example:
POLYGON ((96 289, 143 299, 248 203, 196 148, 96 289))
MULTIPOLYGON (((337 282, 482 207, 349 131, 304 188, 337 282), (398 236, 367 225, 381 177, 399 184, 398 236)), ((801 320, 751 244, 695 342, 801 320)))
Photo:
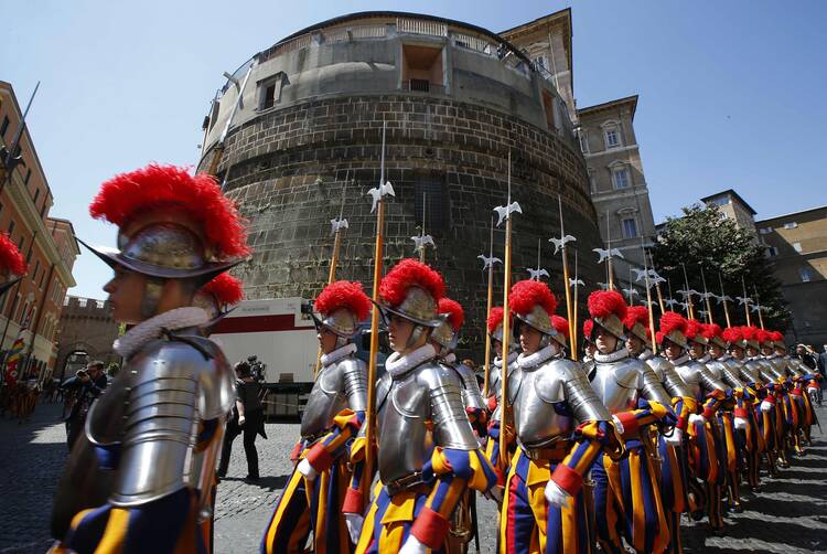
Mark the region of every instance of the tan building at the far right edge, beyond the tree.
POLYGON ((793 313, 788 342, 827 344, 827 206, 755 221, 793 313))

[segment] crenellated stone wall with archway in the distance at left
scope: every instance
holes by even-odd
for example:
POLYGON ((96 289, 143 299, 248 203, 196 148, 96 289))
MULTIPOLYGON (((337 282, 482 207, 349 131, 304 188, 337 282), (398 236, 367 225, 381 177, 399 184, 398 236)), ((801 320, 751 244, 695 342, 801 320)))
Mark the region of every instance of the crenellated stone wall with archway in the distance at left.
POLYGON ((100 360, 107 365, 120 363, 121 356, 112 349, 119 330, 108 301, 67 296, 57 328, 54 376, 62 381, 71 377, 92 360, 100 360))

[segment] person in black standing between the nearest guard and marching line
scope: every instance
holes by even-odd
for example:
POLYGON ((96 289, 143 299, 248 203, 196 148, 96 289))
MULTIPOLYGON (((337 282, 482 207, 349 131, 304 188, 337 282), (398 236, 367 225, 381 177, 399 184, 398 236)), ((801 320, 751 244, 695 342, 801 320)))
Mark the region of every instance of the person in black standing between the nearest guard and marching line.
POLYGON ((244 454, 247 456, 247 479, 256 481, 258 475, 258 451, 256 450, 256 435, 267 438, 265 434, 265 416, 261 402, 258 399, 258 383, 253 379, 250 364, 238 362, 236 372, 236 406, 227 420, 227 432, 224 435, 221 462, 216 475, 226 477, 229 468, 229 456, 233 451, 233 440, 244 434, 244 454))

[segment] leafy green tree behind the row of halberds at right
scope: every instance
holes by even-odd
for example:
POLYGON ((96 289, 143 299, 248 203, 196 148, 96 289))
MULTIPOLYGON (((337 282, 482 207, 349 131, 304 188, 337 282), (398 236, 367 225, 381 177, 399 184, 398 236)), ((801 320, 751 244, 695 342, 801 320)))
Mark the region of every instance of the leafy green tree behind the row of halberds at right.
MULTIPOLYGON (((707 290, 732 297, 728 302, 733 326, 747 324, 743 305, 737 297, 744 296, 756 300, 764 308, 761 316, 764 327, 784 331, 790 324, 790 311, 781 294, 781 283, 773 274, 773 264, 765 255, 765 248, 758 243, 755 235, 735 226, 716 205, 694 204, 683 209, 681 217, 669 217, 655 241, 652 251, 655 268, 669 280, 662 284, 664 296, 668 288, 675 299, 680 299, 676 290, 686 287, 704 292, 704 277, 707 290), (683 264, 683 266, 681 266, 683 264), (701 274, 702 269, 702 274, 701 274), (743 284, 742 284, 743 279, 743 284)), ((692 298, 697 319, 699 309, 706 310, 705 300, 692 298)), ((710 298, 712 318, 724 327, 727 321, 723 305, 710 298)), ((759 313, 750 311, 752 324, 759 324, 759 313)))

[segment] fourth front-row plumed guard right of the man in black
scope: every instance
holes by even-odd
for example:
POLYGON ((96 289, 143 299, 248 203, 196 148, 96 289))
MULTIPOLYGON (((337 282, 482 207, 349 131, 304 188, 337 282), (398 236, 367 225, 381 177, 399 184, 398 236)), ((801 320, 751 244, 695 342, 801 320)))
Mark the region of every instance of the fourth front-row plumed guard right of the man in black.
POLYGON ((623 552, 624 536, 636 552, 660 553, 670 537, 649 425, 674 427, 672 397, 652 369, 626 350, 623 319, 627 306, 620 292, 597 290, 589 295, 588 308, 597 347, 589 379, 612 413, 629 454, 621 460, 599 457, 592 467, 598 540, 604 552, 623 552), (614 479, 620 473, 629 479, 614 479), (632 501, 633 496, 638 501, 632 501))

